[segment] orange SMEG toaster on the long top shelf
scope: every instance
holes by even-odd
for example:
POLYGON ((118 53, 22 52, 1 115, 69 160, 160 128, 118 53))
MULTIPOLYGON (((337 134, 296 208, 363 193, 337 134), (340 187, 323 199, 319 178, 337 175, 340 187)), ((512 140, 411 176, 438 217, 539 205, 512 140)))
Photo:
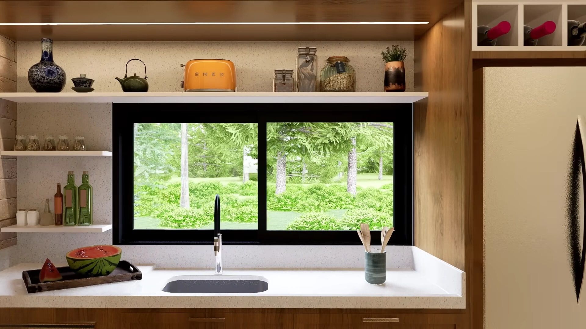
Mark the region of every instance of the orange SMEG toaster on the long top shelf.
POLYGON ((192 59, 183 65, 185 92, 236 91, 236 67, 225 59, 192 59))

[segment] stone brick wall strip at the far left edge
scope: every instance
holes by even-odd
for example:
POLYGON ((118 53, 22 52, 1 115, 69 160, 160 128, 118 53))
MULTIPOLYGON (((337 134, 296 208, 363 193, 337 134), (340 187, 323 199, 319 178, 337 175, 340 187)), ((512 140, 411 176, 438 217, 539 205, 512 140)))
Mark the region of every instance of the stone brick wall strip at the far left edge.
MULTIPOLYGON (((16 43, 0 36, 0 92, 16 91, 16 43)), ((0 100, 0 152, 12 150, 16 104, 0 100)), ((16 159, 0 156, 0 228, 16 224, 16 159)), ((16 245, 16 233, 0 232, 0 249, 16 245)))

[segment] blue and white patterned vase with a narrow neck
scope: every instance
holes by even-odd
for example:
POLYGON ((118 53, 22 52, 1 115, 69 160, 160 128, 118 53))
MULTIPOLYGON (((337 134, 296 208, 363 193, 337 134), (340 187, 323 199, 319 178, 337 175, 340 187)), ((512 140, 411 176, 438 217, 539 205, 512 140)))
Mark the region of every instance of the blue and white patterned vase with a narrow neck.
POLYGON ((53 61, 53 40, 41 39, 39 63, 29 68, 29 84, 36 92, 60 92, 65 87, 65 71, 53 61))

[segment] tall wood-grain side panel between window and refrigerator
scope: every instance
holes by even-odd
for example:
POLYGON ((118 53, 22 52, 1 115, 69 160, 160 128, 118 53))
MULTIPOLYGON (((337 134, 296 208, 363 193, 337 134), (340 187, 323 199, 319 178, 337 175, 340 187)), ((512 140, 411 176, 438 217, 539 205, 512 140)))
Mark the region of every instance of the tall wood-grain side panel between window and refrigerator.
POLYGON ((414 244, 465 268, 469 194, 471 67, 469 20, 461 4, 415 41, 414 244))

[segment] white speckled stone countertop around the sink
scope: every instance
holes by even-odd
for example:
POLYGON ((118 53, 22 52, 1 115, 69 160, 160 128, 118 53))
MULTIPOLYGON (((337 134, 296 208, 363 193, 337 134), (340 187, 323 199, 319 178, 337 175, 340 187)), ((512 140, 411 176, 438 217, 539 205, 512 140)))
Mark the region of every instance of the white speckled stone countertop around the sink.
POLYGON ((21 263, 0 272, 0 307, 343 308, 464 309, 465 273, 414 248, 413 269, 390 269, 384 285, 370 285, 359 269, 246 269, 223 275, 262 276, 261 293, 166 293, 172 277, 211 275, 211 269, 138 266, 143 279, 27 294, 21 263))

